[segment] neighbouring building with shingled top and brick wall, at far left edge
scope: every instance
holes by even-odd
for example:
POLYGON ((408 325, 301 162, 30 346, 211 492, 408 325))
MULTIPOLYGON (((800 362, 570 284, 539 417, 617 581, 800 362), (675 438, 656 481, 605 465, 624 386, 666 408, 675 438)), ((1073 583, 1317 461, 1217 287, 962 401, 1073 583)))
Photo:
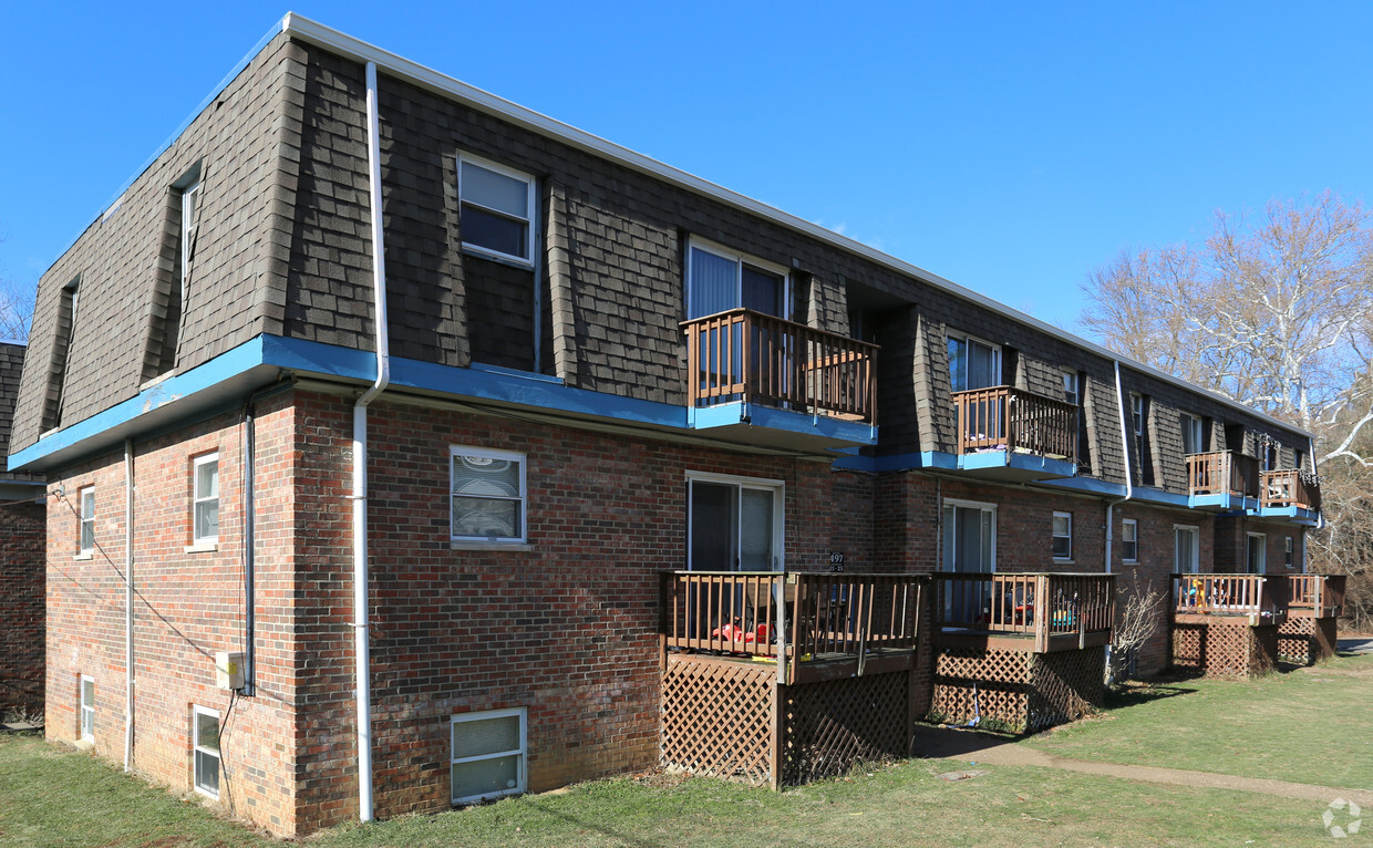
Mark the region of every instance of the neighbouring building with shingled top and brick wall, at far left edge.
POLYGON ((43 712, 44 488, 5 464, 23 350, 0 342, 0 719, 43 712))

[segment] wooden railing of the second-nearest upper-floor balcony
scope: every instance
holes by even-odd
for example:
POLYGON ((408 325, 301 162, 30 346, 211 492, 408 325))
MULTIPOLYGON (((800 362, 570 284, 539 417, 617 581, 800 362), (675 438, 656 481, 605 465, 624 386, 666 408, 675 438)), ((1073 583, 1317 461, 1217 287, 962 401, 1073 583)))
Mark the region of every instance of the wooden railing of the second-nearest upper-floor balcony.
POLYGON ((1024 451, 1075 462, 1078 408, 1011 386, 953 392, 958 453, 1024 451))

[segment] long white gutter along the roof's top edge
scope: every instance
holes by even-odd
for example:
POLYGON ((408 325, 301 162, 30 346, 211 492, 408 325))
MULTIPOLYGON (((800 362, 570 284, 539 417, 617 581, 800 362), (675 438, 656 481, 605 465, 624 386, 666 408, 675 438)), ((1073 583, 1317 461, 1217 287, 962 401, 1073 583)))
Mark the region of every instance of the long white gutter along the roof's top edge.
POLYGON ((464 106, 475 108, 476 111, 494 115, 503 121, 508 121, 511 123, 522 126, 540 136, 556 139, 563 144, 568 144, 571 147, 588 151, 604 159, 610 159, 630 170, 636 170, 641 174, 648 174, 649 177, 655 177, 678 188, 684 188, 692 193, 703 195, 713 200, 725 203, 726 206, 733 206, 735 209, 740 209, 752 215, 758 215, 768 221, 773 221, 776 224, 780 224, 781 226, 800 232, 802 235, 810 236, 811 239, 824 242, 850 254, 857 254, 865 259, 881 265, 883 268, 888 268, 908 277, 914 277, 921 283, 947 291, 949 294, 957 298, 961 298, 971 303, 976 303, 978 306, 982 306, 983 309, 987 309, 1000 316, 1005 316, 1012 321, 1030 325, 1034 329, 1046 333, 1054 339, 1059 339, 1061 342, 1065 342, 1074 347, 1094 353, 1104 360, 1111 360, 1116 364, 1116 368, 1120 366, 1120 362, 1124 362, 1129 368, 1149 375, 1156 380, 1163 380, 1164 383, 1168 383, 1171 386, 1178 386, 1186 388, 1188 391, 1207 395, 1211 399, 1216 401, 1218 403, 1223 403, 1225 406, 1229 406, 1232 409, 1243 410, 1244 413, 1251 414, 1259 420, 1267 421, 1269 424, 1273 424, 1276 427, 1281 427, 1288 432, 1297 432, 1304 436, 1311 435, 1310 432, 1299 427, 1295 427, 1287 421, 1280 421, 1256 409, 1249 409, 1243 403, 1236 403, 1230 398, 1218 395, 1199 386, 1193 386, 1186 380, 1181 380, 1173 375, 1157 370, 1149 365, 1145 365, 1144 362, 1135 362, 1130 358, 1122 357, 1115 351, 1101 347, 1100 344, 1096 344, 1093 342, 1075 336, 1070 332, 1059 329, 1052 324, 1027 316, 1019 310, 1011 309, 1009 306, 998 303, 983 294, 979 294, 969 288, 964 288, 962 285, 958 285, 951 280, 946 280, 923 268, 919 268, 909 262, 903 262, 902 259, 897 259, 895 257, 890 257, 881 252, 880 250, 862 244, 861 242, 854 242, 853 239, 840 236, 839 233, 825 229, 818 224, 813 224, 810 221, 798 218, 796 215, 784 213, 780 209, 768 206, 766 203, 761 203, 739 192, 729 191, 728 188, 717 185, 715 182, 703 180, 695 174, 689 174, 670 165, 665 165, 663 162, 645 156, 644 154, 634 152, 627 147, 621 147, 619 144, 607 141, 600 136, 595 136, 585 130, 577 129, 575 126, 563 123, 562 121, 557 121, 555 118, 549 118, 548 115, 535 113, 534 110, 524 108, 523 106, 519 106, 516 103, 511 103, 504 97, 497 97, 490 92, 485 92, 479 88, 454 80, 453 77, 441 74, 439 71, 435 71, 430 67, 424 67, 423 64, 397 56, 395 54, 382 49, 376 45, 368 44, 367 41, 361 41, 351 36, 341 33, 335 29, 324 26, 323 23, 310 21, 309 18, 302 18, 295 12, 291 12, 281 19, 281 32, 292 38, 299 38, 301 41, 305 41, 308 44, 316 44, 319 47, 323 47, 330 52, 350 59, 353 62, 379 64, 380 67, 386 69, 387 74, 398 80, 404 80, 406 82, 417 85, 419 88, 443 95, 445 97, 454 99, 463 103, 464 106))

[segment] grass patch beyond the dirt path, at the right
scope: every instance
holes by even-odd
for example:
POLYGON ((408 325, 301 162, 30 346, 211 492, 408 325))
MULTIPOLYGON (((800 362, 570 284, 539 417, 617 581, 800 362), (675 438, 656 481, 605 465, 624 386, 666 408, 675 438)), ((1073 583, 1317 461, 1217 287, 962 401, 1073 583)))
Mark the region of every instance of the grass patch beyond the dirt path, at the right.
POLYGON ((1140 689, 1023 744, 1059 756, 1373 790, 1373 656, 1140 689))

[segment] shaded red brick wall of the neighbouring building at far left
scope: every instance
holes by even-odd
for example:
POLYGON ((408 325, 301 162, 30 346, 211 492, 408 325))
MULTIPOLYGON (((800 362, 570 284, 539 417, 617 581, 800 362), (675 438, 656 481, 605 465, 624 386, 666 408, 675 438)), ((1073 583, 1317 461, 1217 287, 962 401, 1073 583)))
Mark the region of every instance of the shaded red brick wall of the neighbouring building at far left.
POLYGON ((0 718, 43 712, 45 523, 43 504, 0 504, 0 718))

